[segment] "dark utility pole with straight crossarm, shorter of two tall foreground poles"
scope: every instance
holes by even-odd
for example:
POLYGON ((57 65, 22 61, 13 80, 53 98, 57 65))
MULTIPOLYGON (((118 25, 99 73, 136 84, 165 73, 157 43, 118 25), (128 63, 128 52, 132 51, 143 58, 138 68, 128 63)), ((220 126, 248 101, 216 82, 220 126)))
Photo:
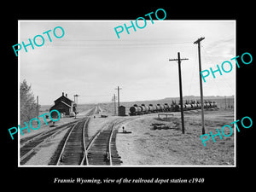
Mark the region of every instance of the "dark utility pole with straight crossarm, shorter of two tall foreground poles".
POLYGON ((183 85, 182 85, 182 76, 181 76, 181 61, 189 60, 187 58, 180 58, 179 52, 177 52, 177 59, 169 59, 169 61, 177 61, 178 64, 178 79, 179 79, 179 99, 180 99, 180 112, 181 112, 181 119, 182 119, 182 131, 183 134, 185 133, 184 127, 184 116, 183 116, 183 85))

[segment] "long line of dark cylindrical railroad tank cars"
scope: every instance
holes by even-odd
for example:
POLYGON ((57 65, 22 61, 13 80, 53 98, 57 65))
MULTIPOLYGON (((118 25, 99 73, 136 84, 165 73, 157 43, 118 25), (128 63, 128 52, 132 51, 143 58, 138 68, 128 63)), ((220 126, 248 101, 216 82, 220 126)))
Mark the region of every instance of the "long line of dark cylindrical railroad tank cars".
MULTIPOLYGON (((157 104, 156 106, 149 104, 148 106, 142 104, 141 106, 137 106, 134 104, 130 108, 130 115, 138 115, 138 114, 147 114, 147 113, 158 113, 158 112, 177 112, 180 111, 181 106, 176 104, 176 102, 172 102, 171 105, 165 103, 164 105, 157 104)), ((195 110, 200 109, 201 103, 200 102, 186 102, 183 104, 183 110, 195 110)), ((205 101, 204 108, 217 108, 216 102, 205 101)))

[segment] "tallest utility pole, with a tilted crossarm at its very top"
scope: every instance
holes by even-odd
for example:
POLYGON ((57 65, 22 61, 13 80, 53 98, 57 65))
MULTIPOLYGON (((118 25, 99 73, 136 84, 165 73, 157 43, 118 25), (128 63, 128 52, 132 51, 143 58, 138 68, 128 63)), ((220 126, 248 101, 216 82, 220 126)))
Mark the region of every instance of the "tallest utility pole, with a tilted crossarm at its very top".
POLYGON ((202 134, 205 134, 205 118, 204 118, 204 98, 203 98, 203 90, 202 90, 202 82, 201 82, 201 49, 200 42, 205 38, 198 38, 194 44, 198 44, 198 61, 199 61, 199 79, 200 79, 200 93, 201 93, 201 131, 202 134))

